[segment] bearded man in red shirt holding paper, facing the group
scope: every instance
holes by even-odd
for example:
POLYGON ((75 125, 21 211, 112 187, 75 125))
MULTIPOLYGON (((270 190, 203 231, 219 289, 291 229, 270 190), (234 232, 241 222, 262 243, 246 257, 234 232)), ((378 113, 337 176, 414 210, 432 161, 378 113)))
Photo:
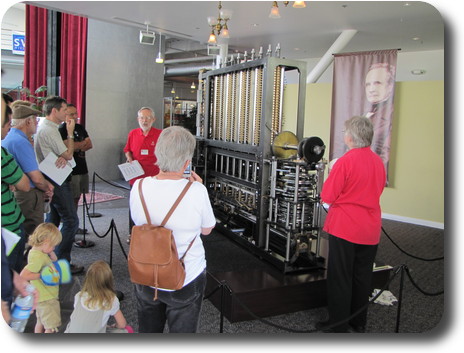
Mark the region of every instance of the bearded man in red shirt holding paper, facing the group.
MULTIPOLYGON (((137 113, 140 128, 131 130, 127 137, 126 147, 124 147, 127 162, 139 161, 145 172, 143 175, 129 180, 131 188, 137 179, 155 176, 159 173, 159 168, 156 165, 155 146, 162 130, 152 127, 155 119, 153 109, 149 107, 140 108, 137 113)), ((133 225, 134 223, 129 214, 129 234, 133 225)), ((130 237, 128 242, 130 242, 130 237)))

